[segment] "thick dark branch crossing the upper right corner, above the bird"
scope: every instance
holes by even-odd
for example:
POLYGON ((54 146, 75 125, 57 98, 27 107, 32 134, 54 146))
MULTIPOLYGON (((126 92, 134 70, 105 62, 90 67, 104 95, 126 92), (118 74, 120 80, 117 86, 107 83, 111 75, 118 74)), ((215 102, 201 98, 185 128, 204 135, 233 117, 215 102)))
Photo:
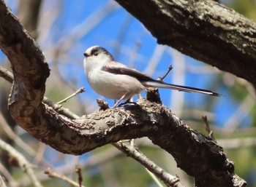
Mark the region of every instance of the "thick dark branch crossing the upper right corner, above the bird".
POLYGON ((250 81, 256 87, 256 23, 212 0, 116 0, 159 44, 250 81))

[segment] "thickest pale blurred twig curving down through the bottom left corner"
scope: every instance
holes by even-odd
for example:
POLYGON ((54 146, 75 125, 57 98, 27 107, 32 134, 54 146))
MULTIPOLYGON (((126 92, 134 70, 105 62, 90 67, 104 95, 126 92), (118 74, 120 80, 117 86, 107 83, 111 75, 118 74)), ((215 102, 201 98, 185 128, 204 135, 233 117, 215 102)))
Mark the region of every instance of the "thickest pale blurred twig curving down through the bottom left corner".
POLYGON ((20 154, 15 148, 12 148, 9 144, 5 143, 3 140, 0 139, 0 148, 4 151, 7 151, 10 156, 13 156, 17 161, 20 168, 29 176, 31 181, 34 183, 36 187, 42 187, 39 180, 37 180, 36 175, 34 174, 34 170, 31 168, 31 164, 26 160, 26 158, 20 154))

